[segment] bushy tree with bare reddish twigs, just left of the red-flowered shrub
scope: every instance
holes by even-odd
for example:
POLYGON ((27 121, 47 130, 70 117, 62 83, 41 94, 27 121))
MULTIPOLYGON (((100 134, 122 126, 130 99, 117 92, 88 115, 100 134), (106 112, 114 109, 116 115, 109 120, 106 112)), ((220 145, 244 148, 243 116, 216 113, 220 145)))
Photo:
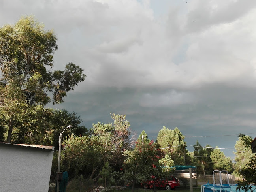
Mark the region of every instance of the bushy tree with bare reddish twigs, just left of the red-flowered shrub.
POLYGON ((102 153, 102 160, 93 165, 94 171, 100 170, 103 166, 102 163, 107 161, 115 170, 120 169, 124 161, 122 152, 131 147, 130 123, 126 120, 126 115, 115 113, 110 113, 110 115, 114 120, 113 124, 111 122, 92 124, 92 142, 95 150, 102 153))

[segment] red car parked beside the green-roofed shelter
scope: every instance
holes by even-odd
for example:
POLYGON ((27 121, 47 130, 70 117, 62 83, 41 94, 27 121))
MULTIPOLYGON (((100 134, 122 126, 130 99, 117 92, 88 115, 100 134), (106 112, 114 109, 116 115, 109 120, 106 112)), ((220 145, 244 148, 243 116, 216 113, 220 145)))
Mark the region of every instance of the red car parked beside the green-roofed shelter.
POLYGON ((155 179, 155 181, 148 180, 143 184, 143 187, 145 189, 154 188, 154 183, 157 188, 165 188, 166 190, 175 189, 181 186, 181 184, 179 183, 179 179, 171 175, 168 180, 167 179, 155 179))

